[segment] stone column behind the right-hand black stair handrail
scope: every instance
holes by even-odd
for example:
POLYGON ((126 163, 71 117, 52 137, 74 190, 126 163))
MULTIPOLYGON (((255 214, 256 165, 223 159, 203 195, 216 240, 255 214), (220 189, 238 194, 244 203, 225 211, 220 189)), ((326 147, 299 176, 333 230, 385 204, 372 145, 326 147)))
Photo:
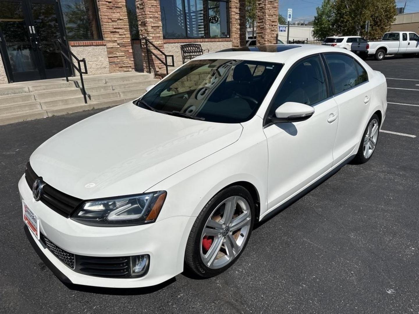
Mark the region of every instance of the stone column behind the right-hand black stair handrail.
MULTIPOLYGON (((136 0, 135 6, 137 8, 138 18, 138 29, 140 31, 140 37, 146 37, 161 51, 164 52, 163 44, 163 27, 161 24, 161 13, 160 13, 160 0, 136 0)), ((142 59, 144 61, 144 72, 149 71, 147 62, 147 51, 145 49, 145 41, 142 41, 142 59)), ((149 48, 157 54, 157 56, 165 61, 164 56, 153 46, 149 45, 149 48)), ((166 67, 158 61, 151 53, 148 54, 150 59, 151 72, 156 75, 163 77, 166 75, 166 67)), ((168 59, 171 62, 171 59, 168 59)))

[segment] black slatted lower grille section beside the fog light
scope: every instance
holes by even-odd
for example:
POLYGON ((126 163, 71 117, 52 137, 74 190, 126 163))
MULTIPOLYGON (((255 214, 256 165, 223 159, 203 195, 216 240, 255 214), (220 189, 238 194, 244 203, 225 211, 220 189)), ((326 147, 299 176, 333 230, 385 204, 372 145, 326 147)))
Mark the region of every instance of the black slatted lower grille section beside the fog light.
POLYGON ((77 256, 78 273, 98 277, 129 277, 129 257, 77 256))

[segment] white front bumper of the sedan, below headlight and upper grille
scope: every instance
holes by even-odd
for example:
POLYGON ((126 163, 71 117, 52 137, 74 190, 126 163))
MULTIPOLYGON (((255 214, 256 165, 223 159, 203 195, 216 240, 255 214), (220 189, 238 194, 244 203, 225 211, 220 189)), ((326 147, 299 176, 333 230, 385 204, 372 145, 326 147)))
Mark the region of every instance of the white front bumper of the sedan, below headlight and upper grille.
POLYGON ((36 251, 41 258, 44 255, 54 266, 50 268, 62 281, 86 286, 136 288, 157 285, 183 271, 186 241, 195 217, 175 216, 140 226, 87 226, 65 218, 35 201, 24 175, 18 186, 21 199, 40 220, 41 233, 63 250, 96 257, 150 255, 150 268, 140 278, 85 275, 68 268, 27 230, 28 237, 33 240, 31 244, 38 247, 36 251))

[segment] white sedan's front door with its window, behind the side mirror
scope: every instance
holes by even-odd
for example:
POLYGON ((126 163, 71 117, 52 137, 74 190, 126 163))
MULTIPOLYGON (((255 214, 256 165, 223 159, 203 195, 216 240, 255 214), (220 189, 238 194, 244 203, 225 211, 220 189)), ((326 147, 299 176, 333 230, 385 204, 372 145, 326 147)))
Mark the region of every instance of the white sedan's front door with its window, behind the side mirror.
POLYGON ((297 61, 272 100, 267 117, 286 102, 313 106, 305 121, 264 127, 268 143, 268 206, 278 206, 328 171, 338 126, 338 109, 328 92, 319 54, 297 61))

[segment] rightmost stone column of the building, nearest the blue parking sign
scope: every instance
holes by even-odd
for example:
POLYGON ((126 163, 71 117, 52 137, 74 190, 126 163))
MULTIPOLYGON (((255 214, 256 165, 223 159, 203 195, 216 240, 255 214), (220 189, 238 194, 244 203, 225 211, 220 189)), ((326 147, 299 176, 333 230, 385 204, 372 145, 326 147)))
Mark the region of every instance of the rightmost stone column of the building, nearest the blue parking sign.
POLYGON ((256 42, 276 44, 278 36, 278 0, 257 0, 256 42))

